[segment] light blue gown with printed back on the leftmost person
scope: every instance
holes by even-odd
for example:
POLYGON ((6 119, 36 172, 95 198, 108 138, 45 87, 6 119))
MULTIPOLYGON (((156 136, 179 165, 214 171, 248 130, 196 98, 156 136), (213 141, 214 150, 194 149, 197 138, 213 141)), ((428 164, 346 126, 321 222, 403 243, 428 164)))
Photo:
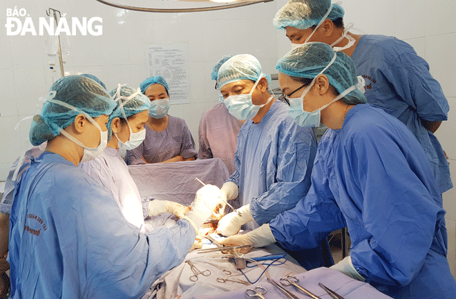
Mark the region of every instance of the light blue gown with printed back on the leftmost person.
POLYGON ((187 220, 140 233, 101 184, 44 152, 15 191, 10 298, 141 298, 195 237, 187 220))

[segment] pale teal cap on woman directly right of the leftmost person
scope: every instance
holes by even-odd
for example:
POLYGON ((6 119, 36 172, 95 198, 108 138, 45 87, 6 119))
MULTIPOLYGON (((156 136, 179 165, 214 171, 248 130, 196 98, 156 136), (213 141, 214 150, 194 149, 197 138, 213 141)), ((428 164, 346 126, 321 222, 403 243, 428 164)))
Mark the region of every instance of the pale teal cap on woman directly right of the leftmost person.
MULTIPOLYGON (((111 90, 111 97, 114 97, 113 99, 116 100, 116 97, 129 97, 133 95, 133 93, 136 93, 137 90, 133 87, 130 86, 121 86, 120 87, 120 95, 117 95, 117 88, 114 88, 111 90)), ((126 102, 126 99, 119 98, 116 103, 117 106, 115 107, 113 113, 109 115, 109 121, 108 124, 106 124, 106 127, 108 128, 108 139, 111 139, 111 135, 113 134, 113 131, 111 130, 111 122, 115 117, 121 117, 124 118, 124 115, 122 115, 122 109, 120 108, 120 101, 124 103, 124 112, 126 117, 131 117, 131 115, 135 115, 136 113, 140 113, 144 110, 149 110, 149 106, 151 106, 151 100, 149 97, 146 97, 142 93, 138 93, 133 97, 133 99, 130 99, 129 102, 126 102)))

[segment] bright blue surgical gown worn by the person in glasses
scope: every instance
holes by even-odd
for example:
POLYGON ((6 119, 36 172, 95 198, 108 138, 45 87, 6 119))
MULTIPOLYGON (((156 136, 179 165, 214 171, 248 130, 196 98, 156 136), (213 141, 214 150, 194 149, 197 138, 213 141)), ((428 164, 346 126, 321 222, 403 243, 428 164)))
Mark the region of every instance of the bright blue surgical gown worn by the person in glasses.
POLYGON ((269 223, 290 249, 314 247, 348 226, 354 268, 392 298, 456 298, 446 260, 445 211, 414 135, 369 104, 323 135, 312 186, 269 223))

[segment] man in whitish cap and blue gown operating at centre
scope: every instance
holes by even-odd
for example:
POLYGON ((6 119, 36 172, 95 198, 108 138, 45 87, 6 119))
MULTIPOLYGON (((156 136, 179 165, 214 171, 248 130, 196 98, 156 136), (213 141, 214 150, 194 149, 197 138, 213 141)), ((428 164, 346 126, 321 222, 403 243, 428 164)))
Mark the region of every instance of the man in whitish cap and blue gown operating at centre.
MULTIPOLYGON (((222 186, 227 200, 238 197, 238 211, 223 217, 217 231, 238 233, 256 229, 279 213, 292 209, 307 193, 316 153, 312 128, 301 128, 286 105, 269 94, 269 76, 252 55, 236 55, 218 70, 218 88, 229 113, 245 120, 238 133, 236 171, 222 186)), ((314 249, 289 252, 305 269, 334 262, 325 240, 314 249)))

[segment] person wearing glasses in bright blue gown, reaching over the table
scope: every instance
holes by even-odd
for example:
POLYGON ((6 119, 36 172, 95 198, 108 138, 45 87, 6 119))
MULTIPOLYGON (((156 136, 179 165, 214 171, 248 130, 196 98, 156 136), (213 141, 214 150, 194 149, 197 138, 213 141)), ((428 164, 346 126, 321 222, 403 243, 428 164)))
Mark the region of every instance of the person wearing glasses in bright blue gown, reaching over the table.
POLYGON ((296 122, 330 129, 319 142, 307 195, 258 233, 225 244, 308 248, 348 226, 350 255, 332 268, 392 298, 456 298, 440 191, 415 136, 379 108, 348 104, 365 102, 353 61, 327 44, 296 48, 277 69, 285 95, 305 87, 288 99, 296 122))

